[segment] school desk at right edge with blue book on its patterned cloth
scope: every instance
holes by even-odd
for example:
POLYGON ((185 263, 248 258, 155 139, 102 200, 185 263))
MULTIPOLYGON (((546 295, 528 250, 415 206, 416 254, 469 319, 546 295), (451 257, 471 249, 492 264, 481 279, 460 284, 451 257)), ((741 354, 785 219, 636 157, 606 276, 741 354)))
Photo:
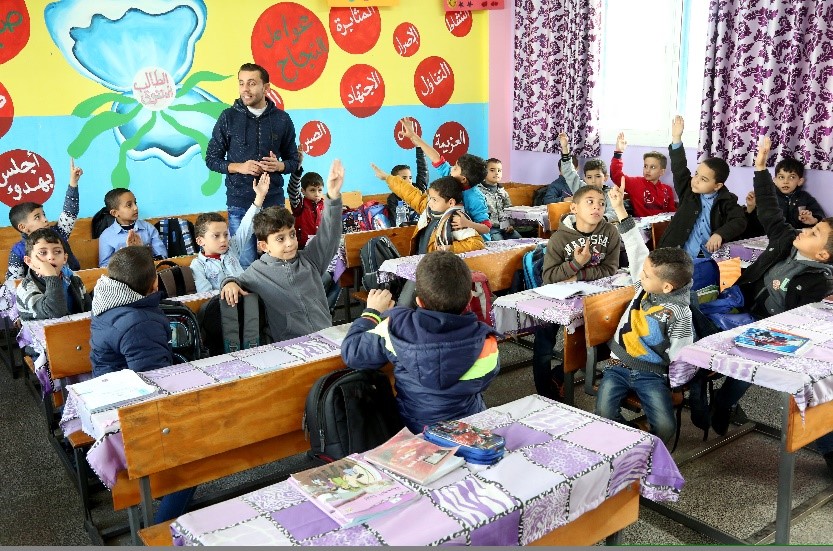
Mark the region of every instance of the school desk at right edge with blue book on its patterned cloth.
MULTIPOLYGON (((735 337, 750 325, 738 327, 683 348, 671 363, 669 375, 673 387, 691 379, 698 368, 710 369, 781 393, 781 449, 774 541, 777 545, 786 545, 790 540, 795 452, 833 430, 833 306, 808 304, 751 326, 780 326, 799 333, 812 330, 816 338, 812 347, 801 356, 779 355, 736 346, 735 337)), ((771 432, 766 427, 760 429, 771 432)), ((826 499, 811 498, 807 503, 812 502, 813 510, 830 499, 833 499, 833 492, 828 490, 826 499)), ((807 503, 797 509, 809 512, 807 503)), ((772 534, 764 532, 762 530, 746 541, 726 535, 725 541, 768 543, 772 534)))

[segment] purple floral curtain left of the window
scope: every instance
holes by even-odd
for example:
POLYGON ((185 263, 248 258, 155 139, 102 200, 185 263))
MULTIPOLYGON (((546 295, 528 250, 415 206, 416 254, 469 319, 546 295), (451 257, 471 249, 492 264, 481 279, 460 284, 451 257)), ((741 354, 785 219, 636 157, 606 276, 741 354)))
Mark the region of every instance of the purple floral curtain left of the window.
POLYGON ((515 0, 515 96, 512 143, 520 151, 599 155, 603 0, 515 0))

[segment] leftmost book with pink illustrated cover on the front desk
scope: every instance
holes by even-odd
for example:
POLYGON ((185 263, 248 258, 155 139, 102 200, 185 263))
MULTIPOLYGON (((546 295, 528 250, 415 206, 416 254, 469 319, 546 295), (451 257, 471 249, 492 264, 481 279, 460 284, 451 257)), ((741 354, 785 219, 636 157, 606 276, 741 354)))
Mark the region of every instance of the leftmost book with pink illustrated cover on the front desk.
POLYGON ((295 473, 290 480, 342 527, 404 507, 419 495, 369 463, 351 457, 295 473))

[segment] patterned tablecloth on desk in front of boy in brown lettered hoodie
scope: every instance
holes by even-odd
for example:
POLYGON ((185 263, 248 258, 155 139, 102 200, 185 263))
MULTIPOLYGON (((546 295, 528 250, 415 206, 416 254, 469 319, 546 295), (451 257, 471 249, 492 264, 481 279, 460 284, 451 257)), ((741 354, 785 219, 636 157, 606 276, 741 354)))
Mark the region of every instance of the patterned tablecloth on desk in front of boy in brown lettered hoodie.
MULTIPOLYGON (((628 274, 622 272, 591 281, 605 289, 630 285, 628 274)), ((545 323, 557 323, 575 332, 584 324, 582 297, 556 299, 539 295, 534 289, 502 296, 494 302, 495 329, 501 333, 517 333, 545 323)))

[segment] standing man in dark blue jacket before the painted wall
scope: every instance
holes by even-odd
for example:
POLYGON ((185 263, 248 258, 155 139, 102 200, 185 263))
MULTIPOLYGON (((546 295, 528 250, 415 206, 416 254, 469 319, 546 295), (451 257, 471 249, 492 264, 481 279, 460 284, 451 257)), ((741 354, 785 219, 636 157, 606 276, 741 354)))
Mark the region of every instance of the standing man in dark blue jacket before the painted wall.
MULTIPOLYGON (((205 152, 209 170, 226 174, 232 235, 254 201, 252 181, 264 172, 270 173, 272 183, 263 207, 284 206, 282 174, 292 174, 300 166, 292 119, 266 97, 269 73, 260 65, 244 63, 237 82, 240 98, 220 113, 205 152)), ((240 254, 240 265, 247 268, 255 257, 252 238, 240 254)))

